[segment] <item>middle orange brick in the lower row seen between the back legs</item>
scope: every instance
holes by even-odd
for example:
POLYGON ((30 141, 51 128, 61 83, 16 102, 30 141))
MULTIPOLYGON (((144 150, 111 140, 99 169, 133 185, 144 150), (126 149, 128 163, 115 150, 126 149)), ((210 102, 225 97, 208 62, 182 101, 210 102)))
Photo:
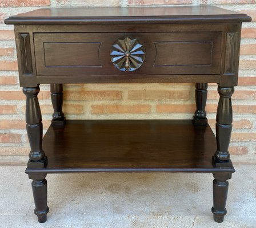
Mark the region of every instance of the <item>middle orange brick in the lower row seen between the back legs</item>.
POLYGON ((137 105, 92 105, 92 114, 114 114, 114 113, 132 113, 132 114, 142 114, 150 113, 151 105, 147 104, 137 104, 137 105))

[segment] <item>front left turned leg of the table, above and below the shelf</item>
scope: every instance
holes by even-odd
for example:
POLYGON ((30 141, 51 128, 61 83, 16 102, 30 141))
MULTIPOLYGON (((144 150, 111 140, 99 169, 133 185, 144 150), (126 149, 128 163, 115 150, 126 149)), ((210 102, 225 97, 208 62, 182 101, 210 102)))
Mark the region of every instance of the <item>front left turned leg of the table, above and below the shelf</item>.
MULTIPOLYGON (((47 164, 47 157, 42 149, 42 115, 38 103, 37 95, 40 91, 37 87, 25 87, 23 93, 26 95, 26 128, 27 137, 30 143, 30 154, 27 168, 44 168, 47 164)), ((49 211, 47 207, 47 182, 46 174, 29 174, 32 179, 32 189, 35 201, 35 214, 39 222, 46 221, 46 215, 49 211)))

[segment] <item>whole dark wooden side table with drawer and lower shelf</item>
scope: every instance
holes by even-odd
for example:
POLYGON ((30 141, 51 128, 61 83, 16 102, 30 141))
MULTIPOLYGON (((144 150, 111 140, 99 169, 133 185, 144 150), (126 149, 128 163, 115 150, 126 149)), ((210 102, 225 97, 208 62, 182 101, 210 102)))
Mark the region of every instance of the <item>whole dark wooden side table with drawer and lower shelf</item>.
MULTIPOLYGON (((226 211, 231 95, 246 14, 214 6, 39 9, 14 25, 26 100, 35 214, 46 221, 47 173, 213 173, 216 222, 226 211), (42 139, 39 84, 54 113, 42 139), (63 83, 195 83, 191 120, 65 120, 63 83), (217 83, 216 137, 207 124, 207 83, 217 83)), ((86 205, 85 205, 86 206, 86 205)))

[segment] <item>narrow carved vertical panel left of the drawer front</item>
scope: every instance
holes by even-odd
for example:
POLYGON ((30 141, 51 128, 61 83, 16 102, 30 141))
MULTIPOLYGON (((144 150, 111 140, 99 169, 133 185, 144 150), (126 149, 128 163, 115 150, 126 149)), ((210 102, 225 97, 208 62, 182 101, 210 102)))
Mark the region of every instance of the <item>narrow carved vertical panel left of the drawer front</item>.
POLYGON ((19 33, 22 74, 33 74, 29 33, 19 33))

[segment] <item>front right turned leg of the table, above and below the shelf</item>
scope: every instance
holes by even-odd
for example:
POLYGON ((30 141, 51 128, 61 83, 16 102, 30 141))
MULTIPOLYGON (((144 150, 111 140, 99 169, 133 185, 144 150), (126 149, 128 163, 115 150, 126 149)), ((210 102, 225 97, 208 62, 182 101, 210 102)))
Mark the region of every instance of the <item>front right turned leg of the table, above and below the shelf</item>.
MULTIPOLYGON (((216 140, 217 151, 213 156, 213 164, 219 168, 233 167, 229 154, 229 143, 232 131, 232 105, 231 96, 234 87, 218 87, 219 103, 216 117, 216 140)), ((225 208, 227 200, 227 189, 231 173, 214 173, 213 181, 213 218, 216 222, 223 222, 224 215, 227 213, 225 208)))

